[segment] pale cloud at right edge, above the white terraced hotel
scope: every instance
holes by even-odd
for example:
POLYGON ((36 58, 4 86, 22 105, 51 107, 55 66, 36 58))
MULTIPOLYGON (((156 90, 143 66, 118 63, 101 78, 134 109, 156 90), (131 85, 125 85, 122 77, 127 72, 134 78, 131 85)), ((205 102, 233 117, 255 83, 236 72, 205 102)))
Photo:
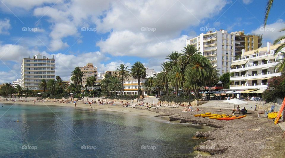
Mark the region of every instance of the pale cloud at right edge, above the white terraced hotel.
POLYGON ((284 20, 279 19, 275 23, 267 24, 266 28, 260 25, 259 28, 252 30, 251 33, 262 34, 263 46, 268 41, 273 42, 276 38, 285 35, 285 31, 279 32, 282 28, 285 28, 284 20))

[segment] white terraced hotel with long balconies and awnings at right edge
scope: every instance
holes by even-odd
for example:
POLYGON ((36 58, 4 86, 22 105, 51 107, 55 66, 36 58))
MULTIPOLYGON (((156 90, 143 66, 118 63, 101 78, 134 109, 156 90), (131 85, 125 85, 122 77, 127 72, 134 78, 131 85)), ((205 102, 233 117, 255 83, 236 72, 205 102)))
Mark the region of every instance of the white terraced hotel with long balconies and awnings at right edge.
MULTIPOLYGON (((230 89, 265 90, 269 78, 281 75, 276 72, 276 65, 278 64, 276 61, 283 59, 284 54, 279 52, 275 56, 273 55, 278 46, 280 44, 271 46, 271 43, 267 42, 267 47, 244 51, 241 58, 233 60, 230 69, 230 72, 233 73, 233 76, 230 77, 233 85, 230 85, 230 89)), ((284 52, 285 49, 282 51, 284 52)))

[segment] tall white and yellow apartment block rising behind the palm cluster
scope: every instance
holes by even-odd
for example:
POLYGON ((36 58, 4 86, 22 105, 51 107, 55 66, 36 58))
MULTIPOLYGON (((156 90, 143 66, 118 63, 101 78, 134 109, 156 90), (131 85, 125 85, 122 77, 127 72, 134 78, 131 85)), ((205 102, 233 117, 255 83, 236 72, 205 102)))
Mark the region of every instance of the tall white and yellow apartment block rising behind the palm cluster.
POLYGON ((226 30, 216 30, 186 40, 186 45, 189 44, 195 45, 198 52, 215 64, 222 75, 229 72, 232 59, 240 57, 242 49, 258 49, 262 45, 262 37, 258 34, 245 35, 244 31, 227 33, 226 30))

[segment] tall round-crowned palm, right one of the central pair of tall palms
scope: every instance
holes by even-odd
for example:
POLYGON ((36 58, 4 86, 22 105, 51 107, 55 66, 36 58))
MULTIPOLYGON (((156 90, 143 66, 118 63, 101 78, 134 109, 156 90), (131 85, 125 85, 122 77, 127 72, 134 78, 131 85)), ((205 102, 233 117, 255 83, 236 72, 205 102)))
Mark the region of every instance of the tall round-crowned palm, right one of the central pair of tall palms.
POLYGON ((131 68, 131 75, 134 79, 137 79, 137 97, 140 96, 140 79, 145 78, 146 68, 141 62, 135 62, 131 68))

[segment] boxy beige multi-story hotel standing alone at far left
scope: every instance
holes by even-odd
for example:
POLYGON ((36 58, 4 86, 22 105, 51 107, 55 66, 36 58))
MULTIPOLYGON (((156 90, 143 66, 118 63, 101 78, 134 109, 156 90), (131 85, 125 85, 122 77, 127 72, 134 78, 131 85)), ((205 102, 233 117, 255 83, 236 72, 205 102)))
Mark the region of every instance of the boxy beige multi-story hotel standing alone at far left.
POLYGON ((42 79, 55 79, 55 59, 49 59, 41 54, 33 58, 24 58, 21 65, 21 86, 30 90, 42 90, 39 83, 42 79))

